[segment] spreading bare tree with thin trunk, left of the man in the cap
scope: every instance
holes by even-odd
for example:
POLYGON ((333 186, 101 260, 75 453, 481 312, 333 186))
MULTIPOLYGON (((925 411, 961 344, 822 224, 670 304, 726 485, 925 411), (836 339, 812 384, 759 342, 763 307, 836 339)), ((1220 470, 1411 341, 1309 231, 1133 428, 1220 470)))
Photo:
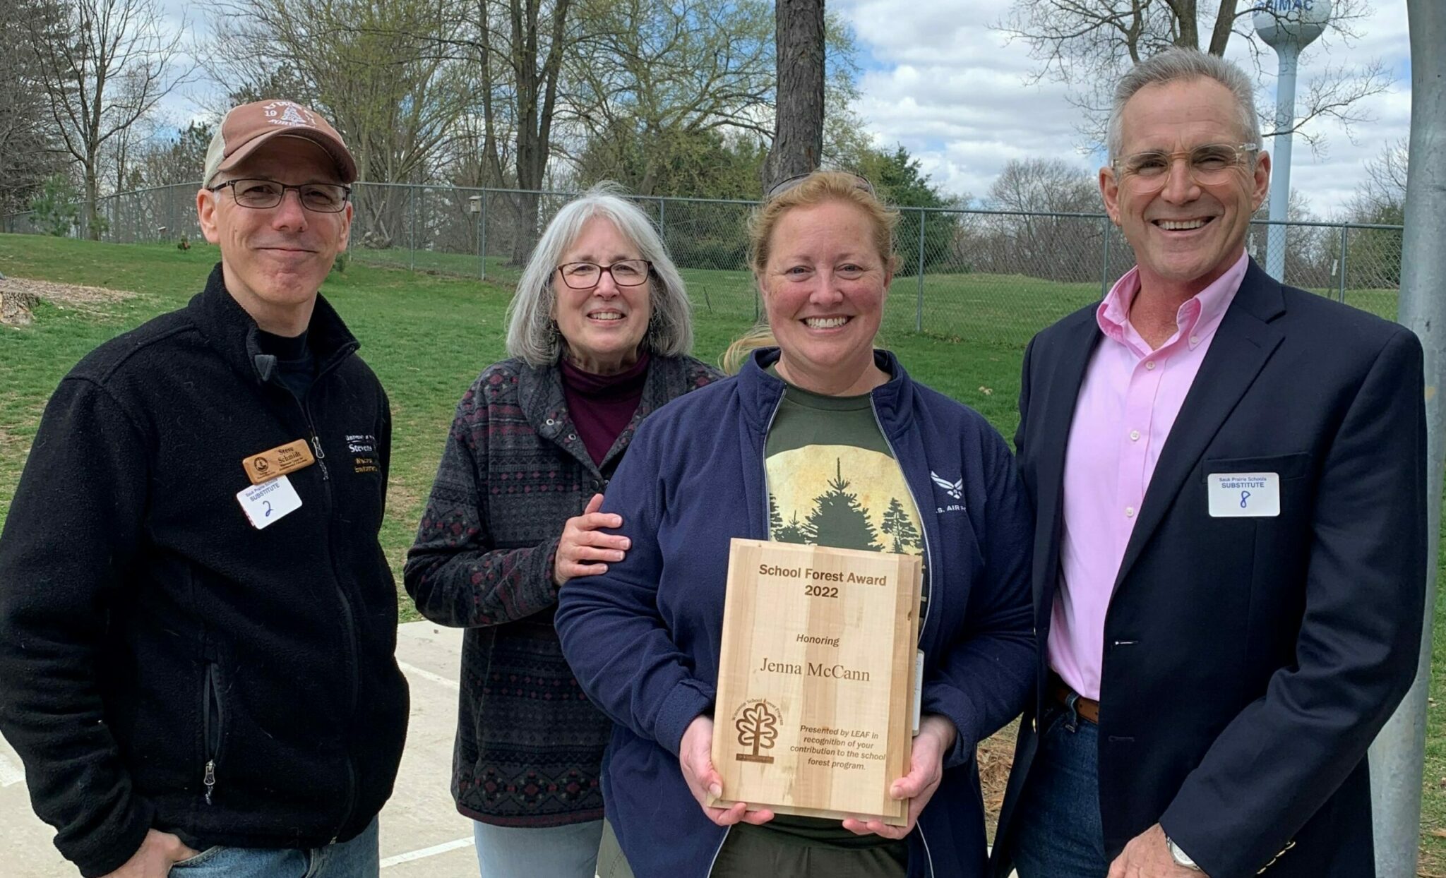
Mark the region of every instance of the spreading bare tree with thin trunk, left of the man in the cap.
POLYGON ((189 75, 179 58, 184 27, 168 30, 156 0, 42 3, 26 26, 32 74, 55 136, 81 168, 84 224, 98 239, 103 150, 189 75))

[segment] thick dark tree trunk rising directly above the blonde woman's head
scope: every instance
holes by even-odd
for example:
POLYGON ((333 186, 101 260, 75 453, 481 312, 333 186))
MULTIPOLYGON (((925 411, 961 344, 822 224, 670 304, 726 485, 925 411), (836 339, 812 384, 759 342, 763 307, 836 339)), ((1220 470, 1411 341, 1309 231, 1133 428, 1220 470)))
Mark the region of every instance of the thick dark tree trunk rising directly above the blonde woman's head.
POLYGON ((823 159, 823 0, 778 0, 778 101, 763 191, 807 174, 823 159))

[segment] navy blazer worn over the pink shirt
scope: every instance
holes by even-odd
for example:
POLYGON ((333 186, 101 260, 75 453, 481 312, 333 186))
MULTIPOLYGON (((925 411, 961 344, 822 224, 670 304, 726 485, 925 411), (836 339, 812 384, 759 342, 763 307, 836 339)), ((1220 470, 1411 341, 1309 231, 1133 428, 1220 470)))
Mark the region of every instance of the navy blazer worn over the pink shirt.
MULTIPOLYGON (((1064 446, 1098 305, 1024 357, 1041 674, 999 817, 1008 874, 1047 703, 1064 446)), ((1366 746, 1416 673, 1426 584, 1421 346, 1254 263, 1160 454, 1105 616, 1099 807, 1113 859, 1161 823, 1210 878, 1374 875, 1366 746), (1275 518, 1212 518, 1210 473, 1280 474, 1275 518), (1272 864, 1272 865, 1271 865, 1272 864)))

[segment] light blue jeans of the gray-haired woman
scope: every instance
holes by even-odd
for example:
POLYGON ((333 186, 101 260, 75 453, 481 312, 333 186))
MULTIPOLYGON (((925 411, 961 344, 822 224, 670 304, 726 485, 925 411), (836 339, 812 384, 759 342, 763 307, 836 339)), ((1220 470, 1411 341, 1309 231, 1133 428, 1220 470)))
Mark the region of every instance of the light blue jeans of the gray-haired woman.
POLYGON ((593 878, 603 822, 519 829, 471 822, 483 878, 593 878))

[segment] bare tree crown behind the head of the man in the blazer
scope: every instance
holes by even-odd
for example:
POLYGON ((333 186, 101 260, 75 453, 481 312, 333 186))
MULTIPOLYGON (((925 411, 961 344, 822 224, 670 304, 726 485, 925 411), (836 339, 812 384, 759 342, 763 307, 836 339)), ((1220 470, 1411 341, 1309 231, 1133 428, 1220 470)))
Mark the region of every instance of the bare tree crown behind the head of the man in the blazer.
MULTIPOLYGON (((1040 62, 1037 78, 1070 85, 1070 100, 1086 111, 1080 130, 1093 146, 1105 142, 1113 84, 1131 65, 1164 49, 1189 46, 1223 56, 1231 42, 1241 39, 1249 46, 1257 72, 1272 74, 1271 49, 1249 22, 1257 6, 1241 0, 1014 0, 1008 19, 996 29, 1030 46, 1031 58, 1040 62)), ((1359 36, 1355 26, 1369 12, 1371 0, 1336 0, 1322 45, 1349 45, 1359 36)), ((1326 65, 1304 84, 1290 130, 1314 148, 1319 135, 1309 127, 1312 122, 1364 122, 1368 117, 1361 100, 1381 94, 1390 84, 1378 59, 1326 65)), ((1274 103, 1259 101, 1258 108, 1265 110, 1265 129, 1272 129, 1274 103)))

